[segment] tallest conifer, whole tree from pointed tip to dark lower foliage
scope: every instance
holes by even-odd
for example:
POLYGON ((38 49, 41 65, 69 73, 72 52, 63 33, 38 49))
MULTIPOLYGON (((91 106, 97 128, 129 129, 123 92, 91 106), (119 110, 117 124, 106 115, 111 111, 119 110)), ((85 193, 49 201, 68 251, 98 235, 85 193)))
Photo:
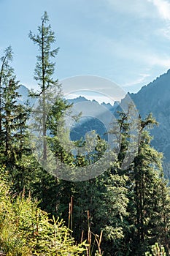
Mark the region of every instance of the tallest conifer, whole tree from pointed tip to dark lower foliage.
MULTIPOLYGON (((35 129, 39 132, 39 124, 41 124, 43 137, 42 163, 44 163, 48 159, 47 146, 53 151, 55 157, 59 157, 63 161, 68 156, 58 141, 56 130, 59 118, 69 108, 69 105, 62 98, 58 79, 54 78, 55 61, 53 62, 53 59, 57 56, 59 48, 53 49, 55 33, 49 24, 47 12, 42 15, 41 20, 42 23, 38 27, 37 34, 30 31, 29 38, 38 46, 39 50, 34 70, 34 79, 38 82, 39 91, 32 92, 31 96, 39 100, 39 106, 36 108, 37 125, 35 129)), ((32 114, 34 115, 34 113, 32 114)), ((46 170, 43 170, 43 167, 40 167, 39 178, 34 183, 34 193, 41 200, 40 206, 43 209, 51 214, 56 214, 59 181, 47 173, 46 170)))

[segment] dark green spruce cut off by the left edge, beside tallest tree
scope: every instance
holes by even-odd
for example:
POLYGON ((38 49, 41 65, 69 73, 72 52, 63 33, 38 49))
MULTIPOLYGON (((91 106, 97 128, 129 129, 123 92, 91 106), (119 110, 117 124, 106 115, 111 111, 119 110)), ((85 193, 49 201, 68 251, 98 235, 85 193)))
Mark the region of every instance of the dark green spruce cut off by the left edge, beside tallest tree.
MULTIPOLYGON (((20 192, 26 185, 26 176, 23 171, 23 155, 30 152, 28 143, 28 132, 26 121, 29 115, 28 105, 19 104, 20 88, 19 81, 16 79, 14 69, 9 65, 12 61, 12 48, 9 47, 4 51, 1 57, 1 78, 0 78, 0 137, 1 137, 1 154, 0 164, 6 165, 9 170, 10 178, 13 182, 12 190, 20 192)), ((26 159, 25 159, 26 162, 26 159)))

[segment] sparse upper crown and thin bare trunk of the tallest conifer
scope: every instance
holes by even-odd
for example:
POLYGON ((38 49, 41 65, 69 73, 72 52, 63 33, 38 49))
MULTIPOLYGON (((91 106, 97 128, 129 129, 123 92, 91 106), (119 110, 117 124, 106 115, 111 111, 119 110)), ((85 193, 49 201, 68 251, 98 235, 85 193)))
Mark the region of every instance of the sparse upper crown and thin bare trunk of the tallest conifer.
POLYGON ((43 159, 47 160, 47 100, 49 100, 49 94, 47 90, 52 90, 53 87, 58 87, 58 79, 54 79, 55 63, 51 61, 54 58, 59 48, 52 50, 52 44, 55 42, 55 34, 51 30, 51 26, 47 23, 49 18, 47 12, 42 16, 42 24, 38 27, 38 33, 29 33, 29 38, 38 45, 39 55, 36 57, 36 67, 34 79, 38 81, 40 92, 39 96, 42 96, 42 135, 43 135, 43 159), (48 99, 47 99, 48 98, 48 99))

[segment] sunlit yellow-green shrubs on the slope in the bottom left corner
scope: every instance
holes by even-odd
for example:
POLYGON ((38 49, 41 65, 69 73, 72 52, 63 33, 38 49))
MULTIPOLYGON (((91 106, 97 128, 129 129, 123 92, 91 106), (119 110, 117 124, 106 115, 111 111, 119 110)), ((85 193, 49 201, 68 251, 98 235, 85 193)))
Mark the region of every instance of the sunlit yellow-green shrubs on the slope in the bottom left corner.
MULTIPOLYGON (((4 173, 1 170, 1 173, 4 173)), ((0 250, 7 256, 82 255, 85 242, 75 244, 63 220, 49 219, 37 202, 10 195, 7 178, 0 175, 0 250)))

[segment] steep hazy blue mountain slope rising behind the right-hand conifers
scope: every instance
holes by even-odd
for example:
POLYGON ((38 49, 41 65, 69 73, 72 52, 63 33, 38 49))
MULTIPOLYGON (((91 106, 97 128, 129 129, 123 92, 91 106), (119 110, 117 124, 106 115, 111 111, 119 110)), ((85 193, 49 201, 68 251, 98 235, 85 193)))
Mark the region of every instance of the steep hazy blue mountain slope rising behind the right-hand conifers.
POLYGON ((165 161, 170 161, 170 69, 166 74, 153 80, 136 94, 128 94, 133 99, 142 118, 152 113, 158 127, 151 130, 152 146, 163 152, 165 161))

